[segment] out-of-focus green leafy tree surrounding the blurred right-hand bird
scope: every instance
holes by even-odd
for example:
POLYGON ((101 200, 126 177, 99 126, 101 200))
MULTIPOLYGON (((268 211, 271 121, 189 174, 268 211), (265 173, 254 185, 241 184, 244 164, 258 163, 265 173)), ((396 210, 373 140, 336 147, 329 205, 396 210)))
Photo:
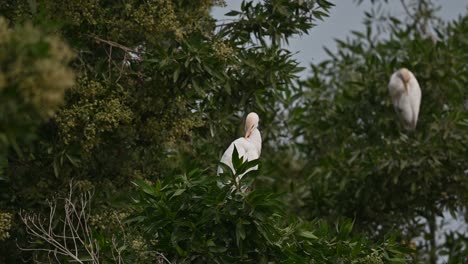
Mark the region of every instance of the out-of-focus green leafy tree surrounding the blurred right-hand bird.
MULTIPOLYGON (((308 217, 344 215, 374 236, 400 229, 410 241, 428 232, 417 217, 431 225, 443 211, 466 211, 468 19, 435 28, 436 42, 397 19, 389 23, 388 38, 376 38, 369 26, 312 65, 303 107, 293 114, 299 149, 308 157, 305 179, 296 184, 308 184, 299 189, 308 217), (387 90, 400 67, 422 89, 418 126, 409 134, 398 126, 387 90)), ((421 255, 437 250, 419 249, 421 255)))

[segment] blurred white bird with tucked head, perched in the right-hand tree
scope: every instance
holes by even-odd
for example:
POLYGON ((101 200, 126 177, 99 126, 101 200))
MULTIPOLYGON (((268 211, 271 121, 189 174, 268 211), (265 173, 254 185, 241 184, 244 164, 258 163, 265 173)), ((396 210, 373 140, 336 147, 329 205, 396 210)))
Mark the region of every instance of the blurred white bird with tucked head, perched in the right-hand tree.
POLYGON ((414 130, 421 105, 421 88, 418 80, 408 69, 401 68, 390 77, 388 91, 403 128, 408 131, 414 130))

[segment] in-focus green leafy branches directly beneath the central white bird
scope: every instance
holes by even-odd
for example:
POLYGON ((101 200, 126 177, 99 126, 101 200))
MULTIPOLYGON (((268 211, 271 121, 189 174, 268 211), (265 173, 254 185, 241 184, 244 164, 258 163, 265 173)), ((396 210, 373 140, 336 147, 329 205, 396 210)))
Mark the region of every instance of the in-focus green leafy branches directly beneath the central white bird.
MULTIPOLYGON (((243 166, 255 166, 233 163, 234 178, 243 166)), ((335 228, 323 221, 304 222, 288 216, 277 194, 242 191, 236 181, 219 188, 218 179, 194 168, 155 183, 135 182, 140 194, 128 224, 141 228, 148 251, 176 263, 403 262, 393 242, 376 247, 353 236, 352 222, 335 228)))

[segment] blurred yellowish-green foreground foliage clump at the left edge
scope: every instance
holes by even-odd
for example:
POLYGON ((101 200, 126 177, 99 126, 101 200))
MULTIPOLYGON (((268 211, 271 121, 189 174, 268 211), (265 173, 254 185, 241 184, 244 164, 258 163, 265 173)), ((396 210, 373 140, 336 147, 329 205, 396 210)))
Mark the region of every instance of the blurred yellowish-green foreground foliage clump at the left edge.
POLYGON ((58 38, 31 25, 10 28, 0 18, 0 160, 9 147, 22 155, 21 144, 36 138, 35 129, 63 103, 74 83, 68 62, 71 50, 58 38))

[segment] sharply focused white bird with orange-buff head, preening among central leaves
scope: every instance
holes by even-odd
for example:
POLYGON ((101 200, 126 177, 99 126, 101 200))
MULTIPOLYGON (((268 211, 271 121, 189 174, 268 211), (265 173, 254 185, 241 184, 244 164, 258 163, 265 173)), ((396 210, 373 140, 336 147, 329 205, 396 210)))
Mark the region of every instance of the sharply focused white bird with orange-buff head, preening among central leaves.
MULTIPOLYGON (((232 165, 232 154, 234 152, 234 146, 236 146, 239 157, 242 157, 244 162, 251 161, 260 158, 260 153, 262 151, 262 136, 258 130, 258 122, 260 118, 254 112, 251 112, 247 115, 245 119, 245 135, 244 137, 234 140, 231 145, 226 149, 223 156, 221 157, 221 162, 226 164, 231 170, 235 173, 234 166, 232 165)), ((258 166, 255 166, 250 170, 256 170, 258 166)), ((223 169, 218 167, 218 175, 223 173, 223 169)), ((239 176, 238 180, 242 178, 245 174, 239 176)))

